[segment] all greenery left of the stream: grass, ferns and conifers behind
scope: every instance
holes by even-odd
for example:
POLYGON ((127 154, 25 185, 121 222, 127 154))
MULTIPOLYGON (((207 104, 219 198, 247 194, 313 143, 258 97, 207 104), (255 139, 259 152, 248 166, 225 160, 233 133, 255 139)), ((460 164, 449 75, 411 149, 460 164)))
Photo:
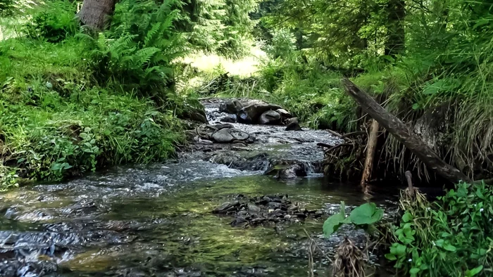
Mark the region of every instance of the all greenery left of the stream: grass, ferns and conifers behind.
POLYGON ((0 1, 0 189, 173 155, 197 105, 177 60, 239 53, 254 24, 254 1, 212 2, 119 1, 94 34, 77 1, 0 1))

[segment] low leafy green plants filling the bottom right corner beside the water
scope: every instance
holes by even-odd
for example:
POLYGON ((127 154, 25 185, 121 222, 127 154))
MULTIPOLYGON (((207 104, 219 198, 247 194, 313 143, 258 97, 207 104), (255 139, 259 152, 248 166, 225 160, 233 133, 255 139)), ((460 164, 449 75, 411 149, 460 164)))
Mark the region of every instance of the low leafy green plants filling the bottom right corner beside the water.
POLYGON ((403 193, 404 215, 385 255, 411 276, 490 276, 493 188, 460 183, 439 202, 403 193))

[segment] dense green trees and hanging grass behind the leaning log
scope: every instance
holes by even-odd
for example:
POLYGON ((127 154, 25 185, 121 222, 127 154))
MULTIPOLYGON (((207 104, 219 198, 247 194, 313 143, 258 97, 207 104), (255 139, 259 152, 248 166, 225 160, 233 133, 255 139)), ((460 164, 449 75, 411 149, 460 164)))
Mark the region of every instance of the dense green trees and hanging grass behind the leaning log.
MULTIPOLYGON (((270 93, 263 97, 283 103, 312 127, 356 131, 367 118, 339 83, 342 75, 351 77, 411 127, 444 111, 428 126, 438 135, 425 140, 470 176, 491 175, 488 1, 286 0, 260 7, 257 37, 268 59, 258 77, 270 93)), ((382 149, 383 167, 395 160, 400 172, 429 176, 392 137, 382 149)))

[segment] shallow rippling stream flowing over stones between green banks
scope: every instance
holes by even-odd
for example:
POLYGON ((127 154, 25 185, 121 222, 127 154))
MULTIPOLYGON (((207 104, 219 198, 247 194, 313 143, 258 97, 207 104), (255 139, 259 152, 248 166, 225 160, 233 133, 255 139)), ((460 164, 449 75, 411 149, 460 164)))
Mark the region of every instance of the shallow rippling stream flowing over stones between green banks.
MULTIPOLYGON (((210 122, 224 116, 221 101, 204 102, 210 122)), ((316 144, 340 143, 327 131, 233 125, 257 141, 198 141, 163 164, 113 167, 1 193, 0 276, 307 276, 305 231, 325 253, 344 236, 364 243, 363 231, 345 226, 323 238, 323 221, 341 201, 348 212, 367 201, 394 211, 399 191, 368 196, 320 174, 323 149, 316 144), (292 163, 306 176, 264 174, 292 163), (212 213, 223 202, 261 195, 288 195, 323 216, 236 228, 232 216, 212 213)), ((315 258, 318 276, 327 276, 329 259, 315 258)))

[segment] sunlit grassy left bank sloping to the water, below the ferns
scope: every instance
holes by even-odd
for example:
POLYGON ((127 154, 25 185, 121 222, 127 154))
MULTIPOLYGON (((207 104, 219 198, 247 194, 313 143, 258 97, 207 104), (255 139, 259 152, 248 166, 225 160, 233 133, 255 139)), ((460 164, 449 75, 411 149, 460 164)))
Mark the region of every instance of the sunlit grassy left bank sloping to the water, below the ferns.
POLYGON ((177 114, 94 79, 88 45, 0 41, 0 189, 110 165, 164 161, 184 141, 177 114), (19 178, 21 180, 19 180, 19 178))

